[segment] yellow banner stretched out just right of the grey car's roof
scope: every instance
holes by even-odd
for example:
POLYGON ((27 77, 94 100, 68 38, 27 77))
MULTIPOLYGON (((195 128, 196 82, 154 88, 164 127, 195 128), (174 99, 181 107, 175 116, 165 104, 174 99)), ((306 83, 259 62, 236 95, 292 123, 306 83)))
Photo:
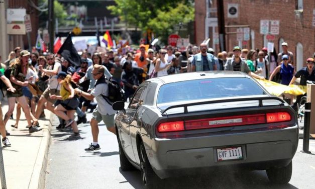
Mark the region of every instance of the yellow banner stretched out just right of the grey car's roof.
POLYGON ((290 86, 280 84, 269 80, 256 79, 266 90, 274 96, 281 96, 282 93, 298 96, 306 93, 306 86, 291 84, 290 86))

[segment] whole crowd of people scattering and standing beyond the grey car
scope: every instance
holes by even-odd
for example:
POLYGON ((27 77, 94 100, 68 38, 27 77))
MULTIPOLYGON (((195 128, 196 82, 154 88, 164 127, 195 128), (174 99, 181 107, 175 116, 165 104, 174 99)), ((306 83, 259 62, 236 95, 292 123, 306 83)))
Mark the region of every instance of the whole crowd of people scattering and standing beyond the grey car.
POLYGON ((77 125, 87 122, 86 111, 90 109, 93 141, 85 151, 100 149, 97 142, 100 121, 106 124, 110 132, 116 134, 116 111, 106 99, 109 95, 106 80, 110 78, 123 87, 125 101, 130 100, 144 80, 183 72, 241 71, 258 79, 269 79, 285 85, 292 84, 299 77, 301 85, 306 85, 306 80, 315 81, 315 54, 307 58, 305 68, 296 72, 293 53, 287 47, 287 43, 282 43, 283 52, 279 54, 275 49, 268 53, 265 47, 261 50, 248 50, 238 46, 231 52, 215 54, 204 43, 199 47, 189 45, 185 51, 178 51, 172 46, 156 51, 140 45, 139 49, 126 47, 125 51, 97 49, 93 54, 83 51, 80 53, 79 66, 72 65, 59 54, 39 53, 36 49, 28 52, 17 47, 10 52, 8 60, 0 68, 0 78, 6 85, 9 104, 4 120, 0 115, 2 140, 5 146, 11 145, 7 137, 10 133, 5 126, 15 107, 17 115, 13 128, 19 127, 22 108, 28 121, 29 133, 40 131, 38 120, 44 116, 43 110, 47 109, 59 117, 57 129, 72 128, 71 137, 80 137, 77 125))

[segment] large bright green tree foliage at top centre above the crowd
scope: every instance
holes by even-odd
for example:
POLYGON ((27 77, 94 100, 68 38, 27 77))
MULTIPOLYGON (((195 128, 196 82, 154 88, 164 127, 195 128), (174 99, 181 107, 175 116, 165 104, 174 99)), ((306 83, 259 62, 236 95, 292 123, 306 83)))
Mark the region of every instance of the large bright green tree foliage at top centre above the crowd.
POLYGON ((120 16, 129 27, 143 32, 151 29, 156 37, 167 41, 167 36, 176 32, 175 26, 194 20, 194 6, 191 0, 115 0, 116 6, 109 6, 113 15, 120 16))

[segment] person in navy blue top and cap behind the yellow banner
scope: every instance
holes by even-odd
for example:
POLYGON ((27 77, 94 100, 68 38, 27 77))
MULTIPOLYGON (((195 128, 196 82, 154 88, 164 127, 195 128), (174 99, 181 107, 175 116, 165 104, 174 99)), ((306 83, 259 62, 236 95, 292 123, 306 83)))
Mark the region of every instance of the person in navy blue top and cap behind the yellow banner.
POLYGON ((289 63, 289 56, 288 55, 284 54, 282 56, 281 65, 278 65, 273 70, 273 72, 271 73, 271 75, 269 77, 269 81, 271 81, 277 73, 280 74, 280 78, 281 78, 280 83, 284 84, 284 85, 289 85, 295 71, 294 71, 293 65, 289 63))

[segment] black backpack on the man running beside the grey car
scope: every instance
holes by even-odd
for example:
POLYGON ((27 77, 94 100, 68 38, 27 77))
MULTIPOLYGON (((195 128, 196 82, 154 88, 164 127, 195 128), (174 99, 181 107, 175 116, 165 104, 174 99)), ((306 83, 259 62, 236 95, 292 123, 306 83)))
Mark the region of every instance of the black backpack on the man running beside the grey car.
POLYGON ((113 105, 113 103, 117 101, 125 101, 125 92, 124 90, 119 86, 119 83, 113 80, 112 78, 106 79, 105 77, 101 77, 97 79, 95 86, 100 83, 107 83, 109 86, 109 94, 108 96, 104 96, 101 94, 101 96, 108 102, 110 105, 113 105))

